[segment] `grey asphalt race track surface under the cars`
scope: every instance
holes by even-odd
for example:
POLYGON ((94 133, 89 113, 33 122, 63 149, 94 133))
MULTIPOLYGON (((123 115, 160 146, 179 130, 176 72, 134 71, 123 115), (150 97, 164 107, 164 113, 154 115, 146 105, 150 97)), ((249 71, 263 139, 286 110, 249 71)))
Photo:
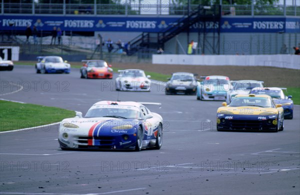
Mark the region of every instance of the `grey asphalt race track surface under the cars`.
MULTIPOLYGON (((220 101, 194 95, 117 92, 114 79, 0 72, 0 98, 82 111, 99 100, 161 102, 160 150, 61 150, 58 125, 0 133, 0 194, 299 194, 300 107, 273 132, 218 132, 220 101)), ((40 113, 42 114, 42 113, 40 113)), ((38 120, 38 118, 36 118, 38 120)), ((5 122, 5 121, 0 121, 5 122)))

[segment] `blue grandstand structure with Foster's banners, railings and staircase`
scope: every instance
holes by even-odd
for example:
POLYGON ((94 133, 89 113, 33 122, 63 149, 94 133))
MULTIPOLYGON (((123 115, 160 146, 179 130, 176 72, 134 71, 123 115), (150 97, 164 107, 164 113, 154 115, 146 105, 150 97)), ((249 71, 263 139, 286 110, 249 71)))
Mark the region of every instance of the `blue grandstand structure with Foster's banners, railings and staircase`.
POLYGON ((101 0, 1 1, 1 45, 20 45, 21 53, 25 54, 85 52, 88 58, 105 57, 108 38, 114 42, 112 53, 118 53, 116 42, 120 39, 125 43, 130 41, 130 55, 141 58, 150 57, 159 47, 164 53, 185 54, 190 40, 198 42, 196 54, 276 54, 282 52, 283 45, 285 53, 292 53, 292 46, 300 44, 297 4, 261 6, 252 1, 246 5, 203 5, 191 4, 190 0, 176 4, 170 0, 108 0, 105 4, 101 0), (25 42, 27 25, 37 26, 38 44, 31 44, 32 38, 29 46, 25 42), (48 47, 45 45, 49 45, 53 26, 62 29, 63 44, 48 47))

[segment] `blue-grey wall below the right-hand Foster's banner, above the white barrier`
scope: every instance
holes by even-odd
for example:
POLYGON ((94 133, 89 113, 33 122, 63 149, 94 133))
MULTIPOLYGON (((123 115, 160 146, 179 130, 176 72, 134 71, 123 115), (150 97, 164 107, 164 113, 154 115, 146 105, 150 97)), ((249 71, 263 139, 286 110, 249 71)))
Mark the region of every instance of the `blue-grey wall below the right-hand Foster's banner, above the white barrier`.
MULTIPOLYGON (((284 54, 294 53, 293 46, 300 46, 300 33, 221 33, 219 37, 219 54, 279 54, 286 45, 284 54)), ((216 54, 218 49, 217 33, 206 34, 181 32, 164 45, 164 51, 172 54, 186 54, 190 40, 198 42, 196 54, 216 54), (213 41, 214 39, 214 41, 213 41), (213 48, 215 52, 213 52, 213 48)), ((283 54, 281 53, 281 54, 283 54)))

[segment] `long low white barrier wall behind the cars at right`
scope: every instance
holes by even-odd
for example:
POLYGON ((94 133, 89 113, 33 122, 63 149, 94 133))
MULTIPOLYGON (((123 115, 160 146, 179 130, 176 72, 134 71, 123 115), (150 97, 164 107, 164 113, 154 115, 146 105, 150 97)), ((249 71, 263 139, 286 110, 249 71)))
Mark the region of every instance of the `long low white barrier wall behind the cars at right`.
POLYGON ((300 55, 184 55, 153 54, 152 63, 179 65, 272 66, 300 69, 300 55))

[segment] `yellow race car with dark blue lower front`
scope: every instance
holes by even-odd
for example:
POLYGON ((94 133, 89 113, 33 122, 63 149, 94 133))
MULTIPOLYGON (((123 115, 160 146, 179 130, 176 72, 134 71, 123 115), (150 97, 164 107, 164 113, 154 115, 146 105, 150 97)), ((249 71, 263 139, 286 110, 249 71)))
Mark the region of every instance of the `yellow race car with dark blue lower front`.
POLYGON ((221 130, 283 130, 283 108, 269 95, 238 94, 229 105, 217 109, 216 129, 221 130))

